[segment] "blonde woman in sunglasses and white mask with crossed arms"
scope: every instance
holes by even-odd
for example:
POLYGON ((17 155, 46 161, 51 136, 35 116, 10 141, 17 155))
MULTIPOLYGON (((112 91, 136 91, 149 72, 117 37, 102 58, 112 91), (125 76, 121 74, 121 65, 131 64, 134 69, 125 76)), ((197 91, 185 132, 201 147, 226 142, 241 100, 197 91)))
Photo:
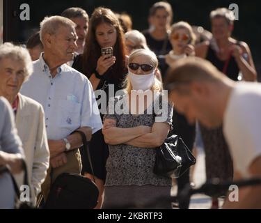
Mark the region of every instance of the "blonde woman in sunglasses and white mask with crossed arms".
POLYGON ((155 77, 157 66, 153 52, 136 49, 129 55, 126 94, 109 102, 102 129, 109 144, 102 208, 171 208, 171 178, 152 171, 173 113, 155 77))

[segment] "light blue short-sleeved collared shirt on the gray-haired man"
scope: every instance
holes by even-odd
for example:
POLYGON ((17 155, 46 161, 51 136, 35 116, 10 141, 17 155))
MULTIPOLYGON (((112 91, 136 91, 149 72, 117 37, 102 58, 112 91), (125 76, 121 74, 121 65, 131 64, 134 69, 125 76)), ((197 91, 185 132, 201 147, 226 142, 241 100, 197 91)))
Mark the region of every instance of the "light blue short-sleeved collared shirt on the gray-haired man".
POLYGON ((45 110, 48 139, 63 139, 77 128, 102 128, 93 87, 87 77, 63 64, 53 78, 41 54, 21 93, 40 102, 45 110))

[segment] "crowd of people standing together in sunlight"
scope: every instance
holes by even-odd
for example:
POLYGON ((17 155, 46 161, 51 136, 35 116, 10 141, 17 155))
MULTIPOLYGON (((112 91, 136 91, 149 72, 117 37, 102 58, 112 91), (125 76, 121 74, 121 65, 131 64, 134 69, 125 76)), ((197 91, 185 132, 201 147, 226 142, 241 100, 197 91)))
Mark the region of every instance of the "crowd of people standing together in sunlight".
MULTIPOLYGON (((45 17, 27 49, 0 45, 0 168, 22 185, 25 160, 38 207, 59 175, 74 173, 95 181, 97 209, 171 209, 171 187, 177 195, 193 187, 191 173, 167 178, 153 167, 159 146, 177 134, 190 151, 202 137, 207 180, 261 177, 261 86, 251 50, 232 38, 230 10, 209 18, 211 32, 173 23, 171 4, 159 1, 149 28, 138 31, 126 13, 98 7, 89 18, 74 7, 45 17), (74 130, 86 134, 91 163, 74 130)), ((1 169, 0 208, 14 208, 1 169)), ((223 190, 211 208, 219 196, 223 208, 261 208, 261 186, 240 188, 238 202, 223 190)))

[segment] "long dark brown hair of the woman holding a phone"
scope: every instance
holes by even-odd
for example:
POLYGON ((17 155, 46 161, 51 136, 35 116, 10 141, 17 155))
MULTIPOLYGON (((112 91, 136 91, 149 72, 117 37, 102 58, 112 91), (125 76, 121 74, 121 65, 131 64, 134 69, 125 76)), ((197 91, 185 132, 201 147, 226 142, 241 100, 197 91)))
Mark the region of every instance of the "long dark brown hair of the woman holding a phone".
POLYGON ((116 29, 117 40, 113 46, 113 55, 116 56, 116 63, 111 66, 111 78, 115 82, 119 82, 123 79, 126 72, 125 38, 116 15, 109 8, 95 8, 90 17, 83 54, 84 74, 90 77, 97 66, 97 60, 101 56, 101 47, 97 43, 95 31, 97 26, 104 22, 111 24, 116 29))

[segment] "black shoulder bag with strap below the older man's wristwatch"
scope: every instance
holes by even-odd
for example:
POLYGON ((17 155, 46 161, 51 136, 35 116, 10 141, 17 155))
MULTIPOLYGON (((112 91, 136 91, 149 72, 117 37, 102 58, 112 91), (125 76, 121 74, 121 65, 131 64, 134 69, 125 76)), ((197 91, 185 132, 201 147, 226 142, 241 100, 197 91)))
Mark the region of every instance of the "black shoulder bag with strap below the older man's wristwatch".
MULTIPOLYGON (((84 132, 74 131, 81 134, 86 156, 89 159, 91 170, 93 165, 90 160, 90 151, 84 132)), ((74 133, 72 132, 72 133, 74 133)), ((94 173, 92 173, 94 176, 94 173)), ((79 174, 63 173, 52 184, 47 201, 46 209, 93 209, 98 202, 99 190, 97 185, 79 174)))

